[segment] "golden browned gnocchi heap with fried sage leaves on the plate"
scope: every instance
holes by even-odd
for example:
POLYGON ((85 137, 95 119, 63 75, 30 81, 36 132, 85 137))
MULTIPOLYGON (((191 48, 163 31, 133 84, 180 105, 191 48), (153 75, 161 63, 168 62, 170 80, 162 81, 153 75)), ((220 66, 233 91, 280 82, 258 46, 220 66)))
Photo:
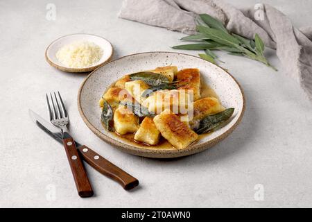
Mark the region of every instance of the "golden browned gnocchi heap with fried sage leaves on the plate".
POLYGON ((199 69, 157 67, 126 74, 107 89, 99 101, 101 121, 114 126, 107 130, 144 147, 187 148, 234 112, 216 97, 200 81, 199 69))

